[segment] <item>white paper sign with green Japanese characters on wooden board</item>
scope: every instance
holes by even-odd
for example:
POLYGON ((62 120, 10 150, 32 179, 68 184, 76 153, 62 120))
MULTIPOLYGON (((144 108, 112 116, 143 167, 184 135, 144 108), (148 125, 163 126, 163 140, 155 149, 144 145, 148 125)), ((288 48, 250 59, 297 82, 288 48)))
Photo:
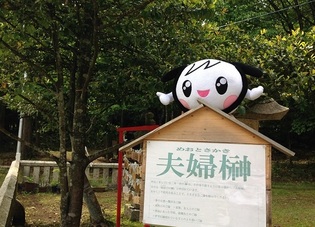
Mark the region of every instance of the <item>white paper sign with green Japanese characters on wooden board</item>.
POLYGON ((143 222, 266 226, 265 146, 148 141, 143 222))

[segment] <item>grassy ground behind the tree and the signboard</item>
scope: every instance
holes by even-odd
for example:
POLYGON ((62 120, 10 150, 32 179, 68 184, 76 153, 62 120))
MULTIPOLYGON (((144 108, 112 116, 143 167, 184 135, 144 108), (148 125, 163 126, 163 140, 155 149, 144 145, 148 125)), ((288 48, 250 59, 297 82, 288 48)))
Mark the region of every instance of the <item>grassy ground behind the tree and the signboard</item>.
MULTIPOLYGON (((288 170, 291 170, 291 168, 288 168, 285 173, 280 173, 277 169, 274 169, 274 175, 276 176, 273 176, 274 180, 272 183, 272 226, 313 227, 315 226, 315 182, 313 177, 305 177, 305 173, 313 176, 310 173, 314 173, 314 165, 308 165, 307 169, 303 169, 303 174, 299 174, 299 177, 292 177, 292 174, 288 174, 288 170), (290 179, 283 177, 288 175, 291 176, 290 179), (279 183, 280 179, 285 179, 287 182, 279 183), (308 183, 302 182, 302 179, 309 181, 308 183)), ((0 168, 1 184, 7 171, 8 169, 0 168)), ((294 171, 294 173, 297 172, 294 171)), ((116 192, 97 193, 97 197, 102 209, 105 211, 106 219, 115 223, 116 192)), ((18 199, 25 207, 27 222, 30 226, 59 226, 60 195, 51 193, 19 193, 18 199), (45 212, 42 212, 43 210, 45 212)), ((83 207, 82 222, 82 226, 88 226, 89 214, 85 206, 83 207)), ((123 217, 121 226, 140 227, 143 225, 138 222, 130 222, 123 217)))

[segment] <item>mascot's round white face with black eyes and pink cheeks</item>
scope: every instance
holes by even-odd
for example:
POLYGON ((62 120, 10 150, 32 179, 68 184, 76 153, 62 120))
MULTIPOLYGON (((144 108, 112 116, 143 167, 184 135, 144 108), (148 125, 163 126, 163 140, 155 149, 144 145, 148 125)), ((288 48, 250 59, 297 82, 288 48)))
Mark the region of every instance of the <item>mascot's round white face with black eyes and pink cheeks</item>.
POLYGON ((198 99, 218 109, 226 109, 240 97, 243 79, 232 64, 201 60, 187 66, 176 83, 176 96, 186 109, 199 106, 198 99))

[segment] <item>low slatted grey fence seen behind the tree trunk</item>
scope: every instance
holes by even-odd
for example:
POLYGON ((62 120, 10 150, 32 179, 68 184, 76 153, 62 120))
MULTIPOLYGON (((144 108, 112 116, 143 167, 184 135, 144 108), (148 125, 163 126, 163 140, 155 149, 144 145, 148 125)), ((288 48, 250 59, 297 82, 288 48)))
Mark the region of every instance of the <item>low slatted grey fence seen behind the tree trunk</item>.
MULTIPOLYGON (((117 163, 90 163, 85 173, 92 187, 117 187, 117 163)), ((58 184, 59 168, 53 161, 23 160, 21 161, 19 182, 25 181, 37 183, 40 187, 58 184)))

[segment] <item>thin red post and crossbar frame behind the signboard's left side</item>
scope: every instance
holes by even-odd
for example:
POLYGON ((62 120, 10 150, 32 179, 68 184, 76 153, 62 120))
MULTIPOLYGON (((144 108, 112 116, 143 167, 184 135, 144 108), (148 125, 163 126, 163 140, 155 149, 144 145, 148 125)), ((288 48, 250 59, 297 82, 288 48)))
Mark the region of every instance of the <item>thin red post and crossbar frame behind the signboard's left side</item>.
MULTIPOLYGON (((152 131, 159 127, 159 125, 143 125, 133 127, 119 127, 118 142, 124 142, 125 132, 136 132, 136 131, 152 131)), ((123 175, 123 152, 118 151, 118 176, 117 176, 117 212, 116 212, 116 227, 120 227, 120 213, 121 213, 121 197, 122 197, 122 175, 123 175)), ((147 225, 145 225, 147 226, 147 225)))

